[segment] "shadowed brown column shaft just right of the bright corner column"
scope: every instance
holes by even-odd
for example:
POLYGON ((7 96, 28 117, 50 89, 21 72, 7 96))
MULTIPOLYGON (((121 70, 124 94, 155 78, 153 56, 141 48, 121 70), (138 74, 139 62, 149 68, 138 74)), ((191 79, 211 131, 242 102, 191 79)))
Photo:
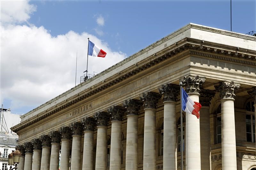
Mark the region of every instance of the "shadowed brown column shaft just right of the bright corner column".
POLYGON ((201 169, 211 170, 210 107, 200 110, 201 169))

